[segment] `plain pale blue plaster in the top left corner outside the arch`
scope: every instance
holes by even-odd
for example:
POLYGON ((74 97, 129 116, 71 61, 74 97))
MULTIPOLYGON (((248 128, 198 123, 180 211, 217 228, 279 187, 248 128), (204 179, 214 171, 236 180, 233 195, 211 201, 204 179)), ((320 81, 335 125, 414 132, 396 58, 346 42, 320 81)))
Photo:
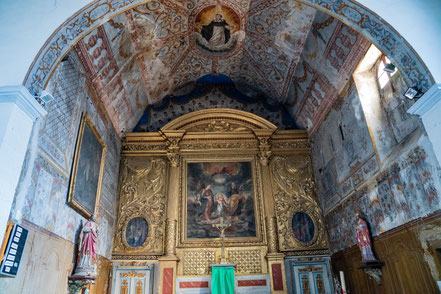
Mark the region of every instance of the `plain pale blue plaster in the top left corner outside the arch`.
POLYGON ((0 86, 21 85, 44 42, 88 0, 0 2, 0 86))

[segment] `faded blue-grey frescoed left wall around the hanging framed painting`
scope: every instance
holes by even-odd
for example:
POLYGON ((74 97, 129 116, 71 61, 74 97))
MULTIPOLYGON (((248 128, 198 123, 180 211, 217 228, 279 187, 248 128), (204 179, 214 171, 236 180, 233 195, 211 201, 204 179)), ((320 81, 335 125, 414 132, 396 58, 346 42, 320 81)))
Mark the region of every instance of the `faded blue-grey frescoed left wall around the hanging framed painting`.
POLYGON ((85 219, 67 204, 67 192, 81 113, 87 112, 108 147, 99 203, 99 254, 109 258, 121 143, 111 124, 97 114, 78 64, 75 54, 69 54, 51 79, 48 89, 55 100, 34 126, 10 217, 76 242, 85 219))

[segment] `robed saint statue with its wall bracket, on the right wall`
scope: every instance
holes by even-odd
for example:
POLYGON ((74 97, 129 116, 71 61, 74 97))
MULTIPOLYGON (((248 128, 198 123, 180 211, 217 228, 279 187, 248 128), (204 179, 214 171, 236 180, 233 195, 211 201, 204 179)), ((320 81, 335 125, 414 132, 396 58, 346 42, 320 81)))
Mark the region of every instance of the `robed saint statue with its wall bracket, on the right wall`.
POLYGON ((355 218, 357 221, 355 238, 360 248, 362 259, 360 269, 363 269, 378 285, 381 285, 381 276, 383 274, 381 267, 384 263, 378 261, 374 255, 369 228, 360 210, 355 213, 355 218))

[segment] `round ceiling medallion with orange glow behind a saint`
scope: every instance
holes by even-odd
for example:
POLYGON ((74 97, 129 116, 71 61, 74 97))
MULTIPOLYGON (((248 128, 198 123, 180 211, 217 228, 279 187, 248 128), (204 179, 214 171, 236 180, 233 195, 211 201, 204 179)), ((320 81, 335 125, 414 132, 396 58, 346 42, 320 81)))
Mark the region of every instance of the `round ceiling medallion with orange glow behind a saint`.
POLYGON ((240 18, 233 9, 212 5, 202 9, 194 23, 196 44, 208 53, 226 53, 243 39, 240 18))

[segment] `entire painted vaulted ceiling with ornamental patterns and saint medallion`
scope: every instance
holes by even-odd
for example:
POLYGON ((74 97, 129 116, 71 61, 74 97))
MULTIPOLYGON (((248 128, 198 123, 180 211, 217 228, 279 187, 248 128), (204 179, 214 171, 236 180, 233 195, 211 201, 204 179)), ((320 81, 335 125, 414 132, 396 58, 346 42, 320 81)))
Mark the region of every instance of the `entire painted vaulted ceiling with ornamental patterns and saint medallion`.
POLYGON ((145 111, 164 101, 169 101, 160 108, 165 123, 190 111, 176 111, 173 97, 193 97, 205 84, 222 85, 225 79, 218 75, 234 87, 229 93, 248 97, 241 96, 241 103, 278 105, 255 107, 262 112, 256 114, 288 113, 293 123, 282 126, 275 118, 279 127, 312 130, 329 104, 322 100, 337 97, 367 45, 341 22, 293 0, 161 0, 109 20, 71 54, 79 57, 98 108, 117 130, 133 130, 141 117, 143 129, 152 130, 145 126, 157 114, 145 111))

